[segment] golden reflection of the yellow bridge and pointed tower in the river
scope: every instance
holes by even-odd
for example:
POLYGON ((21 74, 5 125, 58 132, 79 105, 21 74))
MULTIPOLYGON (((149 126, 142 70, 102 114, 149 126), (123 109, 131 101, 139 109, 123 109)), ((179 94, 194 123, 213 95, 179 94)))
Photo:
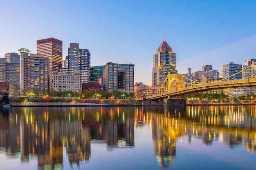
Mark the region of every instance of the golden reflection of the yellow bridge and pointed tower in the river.
POLYGON ((176 142, 211 146, 222 142, 230 148, 242 145, 256 154, 256 106, 143 107, 135 114, 135 126, 141 122, 152 128, 154 153, 164 169, 173 164, 176 142))

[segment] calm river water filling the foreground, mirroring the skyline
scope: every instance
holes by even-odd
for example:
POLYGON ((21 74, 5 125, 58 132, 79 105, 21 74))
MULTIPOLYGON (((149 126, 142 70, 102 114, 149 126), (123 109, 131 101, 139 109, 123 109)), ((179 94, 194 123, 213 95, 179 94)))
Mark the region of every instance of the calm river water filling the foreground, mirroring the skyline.
POLYGON ((0 108, 0 169, 255 169, 255 114, 256 106, 0 108))

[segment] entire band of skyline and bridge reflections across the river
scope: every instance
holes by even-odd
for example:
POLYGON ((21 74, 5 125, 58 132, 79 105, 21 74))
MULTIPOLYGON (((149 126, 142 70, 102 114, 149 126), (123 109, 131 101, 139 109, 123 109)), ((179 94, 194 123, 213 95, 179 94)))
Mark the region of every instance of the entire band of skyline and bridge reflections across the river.
POLYGON ((153 149, 155 163, 167 168, 175 164, 177 143, 191 144, 194 139, 206 146, 243 146, 255 154, 255 110, 256 106, 0 108, 0 148, 8 159, 20 158, 22 163, 36 158, 38 169, 63 169, 67 154, 70 167, 79 169, 91 157, 92 141, 105 142, 107 150, 133 149, 135 129, 142 127, 152 131, 153 148, 147 149, 153 149))

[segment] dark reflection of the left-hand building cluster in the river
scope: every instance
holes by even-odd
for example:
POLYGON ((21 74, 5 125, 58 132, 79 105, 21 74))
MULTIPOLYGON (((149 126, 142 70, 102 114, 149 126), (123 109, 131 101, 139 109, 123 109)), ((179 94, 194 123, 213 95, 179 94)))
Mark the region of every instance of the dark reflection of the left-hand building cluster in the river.
POLYGON ((63 151, 79 168, 91 155, 91 139, 108 148, 134 146, 134 109, 110 107, 0 108, 0 147, 22 162, 38 159, 38 169, 63 169, 63 151))

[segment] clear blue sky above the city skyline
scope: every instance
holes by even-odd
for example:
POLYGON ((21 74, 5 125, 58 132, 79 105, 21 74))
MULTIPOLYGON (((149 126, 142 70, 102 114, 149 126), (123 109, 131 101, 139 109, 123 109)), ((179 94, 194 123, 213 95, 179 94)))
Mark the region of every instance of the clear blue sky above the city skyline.
POLYGON ((0 57, 36 40, 63 41, 91 52, 91 66, 135 64, 135 82, 151 85, 153 54, 165 40, 177 70, 219 69, 256 58, 255 0, 2 0, 0 57))

